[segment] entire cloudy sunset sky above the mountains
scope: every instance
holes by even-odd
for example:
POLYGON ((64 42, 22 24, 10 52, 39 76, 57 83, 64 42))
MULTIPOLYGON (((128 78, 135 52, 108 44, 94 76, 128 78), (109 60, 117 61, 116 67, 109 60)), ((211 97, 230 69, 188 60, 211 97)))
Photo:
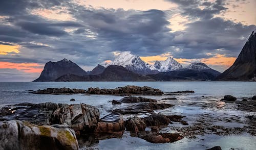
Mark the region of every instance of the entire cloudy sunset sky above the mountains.
POLYGON ((255 0, 0 1, 0 82, 36 79, 48 61, 84 70, 131 51, 223 72, 256 29, 255 0))

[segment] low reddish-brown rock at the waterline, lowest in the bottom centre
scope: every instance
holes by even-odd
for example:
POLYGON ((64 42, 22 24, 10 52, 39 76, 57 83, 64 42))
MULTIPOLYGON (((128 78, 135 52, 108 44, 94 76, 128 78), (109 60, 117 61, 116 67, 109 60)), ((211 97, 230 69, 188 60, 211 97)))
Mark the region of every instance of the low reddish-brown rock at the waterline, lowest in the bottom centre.
POLYGON ((151 143, 170 143, 183 139, 177 133, 154 133, 152 131, 139 132, 139 137, 151 143))

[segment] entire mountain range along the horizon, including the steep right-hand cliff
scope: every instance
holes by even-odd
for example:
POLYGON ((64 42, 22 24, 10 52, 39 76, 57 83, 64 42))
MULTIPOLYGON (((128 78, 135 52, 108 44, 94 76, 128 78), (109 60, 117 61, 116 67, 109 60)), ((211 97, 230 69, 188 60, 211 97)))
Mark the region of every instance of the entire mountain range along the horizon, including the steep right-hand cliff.
POLYGON ((105 66, 84 71, 68 59, 47 62, 39 78, 33 82, 71 81, 251 81, 256 75, 256 33, 253 31, 237 60, 223 73, 201 62, 184 67, 171 57, 150 65, 132 55, 120 53, 105 66))

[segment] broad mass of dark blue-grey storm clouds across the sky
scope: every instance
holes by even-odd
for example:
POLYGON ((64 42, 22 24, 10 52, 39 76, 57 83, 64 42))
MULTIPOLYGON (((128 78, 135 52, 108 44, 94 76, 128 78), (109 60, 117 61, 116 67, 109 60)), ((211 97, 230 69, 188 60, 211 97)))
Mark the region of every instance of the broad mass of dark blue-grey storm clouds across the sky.
POLYGON ((168 26, 172 19, 169 22, 166 11, 161 10, 94 9, 67 1, 1 1, 0 15, 8 17, 0 20, 0 42, 22 48, 19 54, 0 56, 0 59, 44 64, 68 58, 79 65, 95 66, 113 59, 114 51, 132 51, 139 56, 172 52, 176 58, 210 57, 206 53, 237 56, 255 29, 254 25, 213 18, 226 10, 223 1, 170 2, 180 6, 183 16, 199 20, 187 23, 182 32, 171 32, 168 26), (37 8, 56 9, 53 6, 67 7, 74 21, 30 14, 37 8), (199 9, 200 6, 205 8, 199 9))

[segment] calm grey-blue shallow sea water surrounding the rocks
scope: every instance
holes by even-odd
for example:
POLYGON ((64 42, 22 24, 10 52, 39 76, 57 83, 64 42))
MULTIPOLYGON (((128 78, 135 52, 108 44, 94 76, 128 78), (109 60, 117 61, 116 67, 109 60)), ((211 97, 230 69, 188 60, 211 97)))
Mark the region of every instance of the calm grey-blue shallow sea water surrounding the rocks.
MULTIPOLYGON (((87 89, 89 87, 116 88, 126 85, 150 86, 159 88, 164 92, 194 90, 195 93, 163 96, 144 96, 155 98, 159 102, 175 105, 172 108, 155 111, 165 115, 184 115, 183 120, 190 124, 195 123, 200 118, 208 118, 211 124, 223 127, 248 126, 246 115, 256 115, 254 112, 242 112, 237 110, 237 104, 225 104, 220 99, 227 94, 236 96, 238 100, 244 97, 256 95, 256 82, 30 82, 30 83, 0 83, 0 107, 17 103, 85 103, 98 107, 100 117, 109 114, 111 110, 129 106, 131 104, 121 104, 112 106, 113 99, 120 99, 122 96, 113 95, 45 95, 32 94, 28 90, 38 90, 46 88, 77 88, 87 89), (202 97, 204 96, 204 97, 202 97), (176 97, 177 100, 161 100, 164 97, 176 97), (70 102, 75 98, 75 102, 70 102), (231 118, 231 119, 230 119, 231 118)), ((148 114, 139 114, 145 117, 148 114)), ((129 115, 124 116, 124 118, 129 115)), ((184 127, 181 123, 174 122, 169 127, 184 127)), ((164 132, 176 132, 167 127, 164 132)), ((150 129, 149 129, 150 130, 150 129)), ((198 135, 196 139, 184 138, 174 143, 154 144, 143 139, 131 137, 129 132, 125 132, 121 139, 112 138, 99 140, 92 144, 90 148, 99 149, 205 149, 213 146, 221 146, 222 149, 255 149, 256 137, 248 133, 238 135, 219 136, 215 134, 198 135)), ((86 146, 80 147, 86 149, 86 146)))

